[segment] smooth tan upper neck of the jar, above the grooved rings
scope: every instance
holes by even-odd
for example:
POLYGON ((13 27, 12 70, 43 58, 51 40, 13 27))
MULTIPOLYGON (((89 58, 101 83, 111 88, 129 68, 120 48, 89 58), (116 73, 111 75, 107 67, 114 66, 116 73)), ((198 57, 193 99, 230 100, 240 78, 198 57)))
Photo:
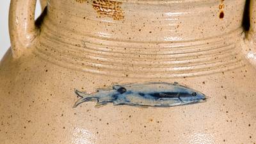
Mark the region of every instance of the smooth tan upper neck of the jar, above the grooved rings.
POLYGON ((78 32, 117 41, 202 40, 241 27, 244 4, 244 0, 51 0, 45 23, 60 34, 78 32))

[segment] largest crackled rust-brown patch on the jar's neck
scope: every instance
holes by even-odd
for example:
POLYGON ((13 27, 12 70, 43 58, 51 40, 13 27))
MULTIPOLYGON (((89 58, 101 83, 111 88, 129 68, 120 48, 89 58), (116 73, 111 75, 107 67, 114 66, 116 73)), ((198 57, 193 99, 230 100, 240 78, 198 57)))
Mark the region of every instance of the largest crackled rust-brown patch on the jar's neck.
POLYGON ((111 17, 114 20, 124 19, 124 11, 121 8, 121 2, 109 1, 109 0, 93 0, 93 9, 97 11, 99 15, 111 17))

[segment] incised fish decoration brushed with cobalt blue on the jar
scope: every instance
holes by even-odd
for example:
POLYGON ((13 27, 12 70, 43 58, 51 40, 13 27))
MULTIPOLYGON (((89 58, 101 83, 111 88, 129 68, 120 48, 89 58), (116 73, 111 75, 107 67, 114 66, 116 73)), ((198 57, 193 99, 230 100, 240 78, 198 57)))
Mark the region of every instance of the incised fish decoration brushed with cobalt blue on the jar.
POLYGON ((205 101, 205 95, 197 90, 190 89, 175 83, 148 82, 125 85, 113 85, 110 89, 97 89, 93 94, 79 92, 80 97, 74 108, 86 101, 97 101, 96 106, 108 103, 114 105, 170 107, 184 104, 193 104, 205 101))

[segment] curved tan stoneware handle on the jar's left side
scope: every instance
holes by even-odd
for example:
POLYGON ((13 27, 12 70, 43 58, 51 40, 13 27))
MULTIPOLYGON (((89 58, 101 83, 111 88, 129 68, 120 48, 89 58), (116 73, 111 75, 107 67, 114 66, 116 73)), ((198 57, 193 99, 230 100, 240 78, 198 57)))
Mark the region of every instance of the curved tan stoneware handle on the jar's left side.
POLYGON ((9 32, 13 57, 20 57, 39 34, 35 25, 36 0, 12 0, 9 32))

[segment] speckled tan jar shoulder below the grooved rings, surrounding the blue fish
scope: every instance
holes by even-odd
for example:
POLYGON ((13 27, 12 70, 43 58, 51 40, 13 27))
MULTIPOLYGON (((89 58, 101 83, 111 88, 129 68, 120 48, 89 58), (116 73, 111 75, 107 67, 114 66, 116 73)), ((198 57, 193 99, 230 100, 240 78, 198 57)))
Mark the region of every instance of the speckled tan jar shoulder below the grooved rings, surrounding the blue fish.
POLYGON ((0 68, 0 139, 13 143, 250 143, 256 137, 255 69, 162 80, 200 90, 205 103, 171 108, 80 104, 74 89, 95 89, 139 79, 94 75, 56 66, 31 54, 0 68), (243 133, 241 133, 243 131, 243 133), (232 133, 232 134, 227 134, 232 133), (44 140, 38 139, 44 136, 44 140))

